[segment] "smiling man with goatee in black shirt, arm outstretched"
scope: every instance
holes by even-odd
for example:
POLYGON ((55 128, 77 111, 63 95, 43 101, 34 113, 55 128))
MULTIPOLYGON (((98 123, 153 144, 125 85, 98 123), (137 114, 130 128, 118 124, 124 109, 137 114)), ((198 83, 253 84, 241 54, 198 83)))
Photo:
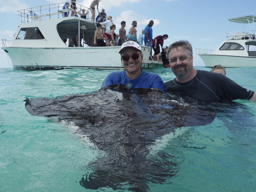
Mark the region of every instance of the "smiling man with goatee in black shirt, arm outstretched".
POLYGON ((188 41, 174 42, 167 53, 176 78, 164 83, 166 92, 208 100, 244 99, 256 102, 253 91, 241 87, 226 76, 194 69, 192 46, 188 41))

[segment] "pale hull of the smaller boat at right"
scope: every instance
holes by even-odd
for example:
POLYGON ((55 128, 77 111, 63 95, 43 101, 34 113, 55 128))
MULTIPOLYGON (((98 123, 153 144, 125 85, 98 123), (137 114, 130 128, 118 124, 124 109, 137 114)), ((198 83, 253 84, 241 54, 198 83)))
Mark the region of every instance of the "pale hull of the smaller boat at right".
POLYGON ((223 67, 256 67, 256 57, 227 56, 215 54, 198 54, 206 67, 221 65, 223 67))

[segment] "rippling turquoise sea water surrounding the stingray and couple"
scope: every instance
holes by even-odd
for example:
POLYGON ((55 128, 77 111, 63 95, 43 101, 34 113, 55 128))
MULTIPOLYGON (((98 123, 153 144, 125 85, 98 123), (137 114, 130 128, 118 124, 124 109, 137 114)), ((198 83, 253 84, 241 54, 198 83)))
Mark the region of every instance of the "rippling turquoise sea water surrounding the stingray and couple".
MULTIPOLYGON (((164 82, 174 78, 170 69, 146 71, 160 75, 164 82)), ((226 71, 229 78, 256 91, 256 68, 226 71)), ((23 101, 92 92, 110 72, 0 69, 0 191, 111 191, 80 186, 86 165, 97 158, 98 151, 76 133, 76 126, 32 116, 23 101)), ((149 183, 151 191, 256 191, 256 103, 237 100, 219 108, 211 124, 178 128, 156 142, 152 154, 160 151, 159 158, 177 166, 176 175, 166 182, 149 183)))

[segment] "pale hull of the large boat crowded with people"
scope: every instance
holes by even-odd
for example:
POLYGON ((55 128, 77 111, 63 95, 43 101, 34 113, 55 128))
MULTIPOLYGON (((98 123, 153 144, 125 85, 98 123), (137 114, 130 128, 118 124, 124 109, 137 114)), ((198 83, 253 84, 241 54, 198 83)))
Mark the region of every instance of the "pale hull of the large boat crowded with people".
MULTIPOLYGON (((120 47, 26 48, 2 47, 15 70, 61 70, 70 68, 123 69, 120 47)), ((145 68, 163 67, 149 60, 150 48, 142 46, 145 68)))

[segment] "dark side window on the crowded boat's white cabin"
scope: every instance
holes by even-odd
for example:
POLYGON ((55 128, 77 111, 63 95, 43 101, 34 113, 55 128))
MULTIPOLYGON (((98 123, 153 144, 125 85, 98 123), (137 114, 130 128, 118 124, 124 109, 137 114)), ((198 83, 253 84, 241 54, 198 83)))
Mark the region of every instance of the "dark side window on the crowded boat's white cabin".
POLYGON ((21 28, 16 39, 44 39, 38 27, 21 28))

